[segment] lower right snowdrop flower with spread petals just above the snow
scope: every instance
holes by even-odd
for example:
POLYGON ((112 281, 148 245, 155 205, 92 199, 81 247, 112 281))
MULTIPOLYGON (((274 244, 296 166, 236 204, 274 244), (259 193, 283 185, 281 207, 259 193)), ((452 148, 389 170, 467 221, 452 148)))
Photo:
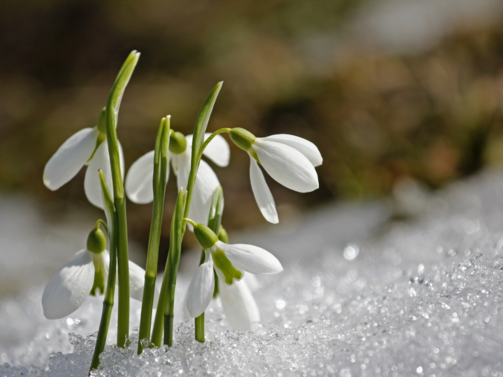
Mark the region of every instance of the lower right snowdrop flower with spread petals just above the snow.
POLYGON ((194 235, 204 249, 205 261, 197 269, 187 292, 187 309, 198 317, 208 307, 215 288, 213 269, 219 277, 219 291, 229 324, 247 330, 260 319, 251 291, 241 279, 245 272, 274 274, 283 271, 281 263, 268 251, 252 245, 227 244, 218 240, 203 224, 187 220, 194 226, 194 235))

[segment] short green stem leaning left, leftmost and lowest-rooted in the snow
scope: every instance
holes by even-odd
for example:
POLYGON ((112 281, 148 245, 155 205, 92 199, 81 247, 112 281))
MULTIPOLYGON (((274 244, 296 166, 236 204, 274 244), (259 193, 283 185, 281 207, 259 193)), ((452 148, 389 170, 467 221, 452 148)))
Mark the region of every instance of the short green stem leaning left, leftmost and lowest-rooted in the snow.
POLYGON ((111 222, 110 227, 103 220, 98 220, 96 223, 103 226, 106 229, 110 242, 110 265, 108 268, 108 281, 105 291, 105 298, 103 300, 103 311, 101 313, 100 328, 98 330, 98 337, 96 338, 96 347, 94 349, 93 359, 91 361, 91 370, 98 368, 100 365, 100 355, 105 349, 105 344, 107 342, 108 327, 110 325, 110 316, 112 314, 112 308, 114 306, 114 294, 115 294, 115 279, 117 273, 117 232, 115 231, 117 224, 117 216, 115 208, 112 202, 112 197, 108 188, 106 186, 105 177, 103 172, 100 171, 100 179, 103 189, 103 196, 105 199, 105 207, 107 211, 108 221, 111 222))

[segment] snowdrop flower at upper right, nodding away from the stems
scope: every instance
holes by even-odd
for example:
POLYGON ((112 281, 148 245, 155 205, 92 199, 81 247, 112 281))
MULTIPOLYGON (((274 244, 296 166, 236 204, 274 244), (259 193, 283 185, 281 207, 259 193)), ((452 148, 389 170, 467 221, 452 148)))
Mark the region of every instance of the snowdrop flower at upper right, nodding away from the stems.
POLYGON ((258 163, 278 183, 297 192, 319 187, 316 166, 323 163, 320 151, 310 141, 293 135, 257 138, 243 128, 233 128, 232 141, 250 156, 250 181, 255 200, 265 219, 279 222, 276 204, 258 163))

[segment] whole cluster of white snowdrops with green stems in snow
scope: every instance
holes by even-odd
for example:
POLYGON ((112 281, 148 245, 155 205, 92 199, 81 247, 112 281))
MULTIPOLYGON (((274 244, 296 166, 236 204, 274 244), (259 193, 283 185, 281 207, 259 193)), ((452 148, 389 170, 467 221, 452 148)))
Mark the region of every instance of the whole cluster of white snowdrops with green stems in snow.
POLYGON ((318 188, 315 167, 322 163, 313 143, 293 135, 258 138, 242 128, 206 133, 222 87, 222 83, 218 83, 204 101, 192 135, 172 129, 170 116, 161 119, 155 149, 131 166, 124 185, 123 152, 116 128, 120 102, 139 55, 133 51, 126 59, 97 125, 80 130, 66 140, 44 171, 45 185, 57 190, 87 165, 86 196, 105 211, 106 221, 96 222, 86 247, 54 274, 42 296, 45 316, 59 319, 77 310, 88 295, 104 295, 91 370, 98 367, 99 355, 106 344, 115 297, 119 347, 124 347, 129 337, 130 297, 142 302, 138 353, 144 347, 172 345, 176 275, 186 229, 194 232, 203 249, 199 268, 184 300, 186 312, 195 318, 195 339, 204 342, 204 312, 212 298, 221 300, 233 329, 249 330, 260 320, 251 293, 256 286, 254 275, 277 273, 283 268, 276 257, 262 248, 229 243, 221 224, 223 190, 213 169, 202 160, 204 156, 217 166, 228 165, 230 149, 221 134, 228 133, 250 156, 252 190, 260 211, 271 223, 278 223, 279 219, 260 166, 283 186, 310 192, 318 188), (179 192, 171 222, 168 259, 159 288, 156 287, 157 264, 170 163, 179 192), (126 194, 134 203, 153 202, 145 270, 129 261, 126 194))

